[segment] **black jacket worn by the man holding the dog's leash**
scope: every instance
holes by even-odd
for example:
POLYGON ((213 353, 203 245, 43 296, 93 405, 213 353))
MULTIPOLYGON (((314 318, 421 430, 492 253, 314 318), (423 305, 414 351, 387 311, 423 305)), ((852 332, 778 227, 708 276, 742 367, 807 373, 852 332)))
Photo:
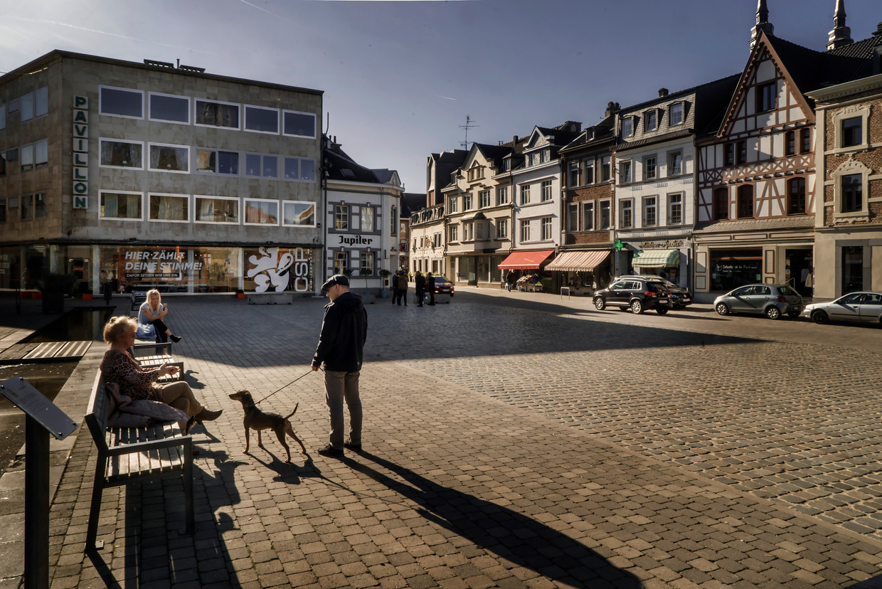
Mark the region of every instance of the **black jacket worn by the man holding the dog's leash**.
POLYGON ((368 338, 368 312, 362 297, 343 293, 325 305, 325 319, 318 336, 313 366, 335 372, 355 372, 362 369, 364 341, 368 338))

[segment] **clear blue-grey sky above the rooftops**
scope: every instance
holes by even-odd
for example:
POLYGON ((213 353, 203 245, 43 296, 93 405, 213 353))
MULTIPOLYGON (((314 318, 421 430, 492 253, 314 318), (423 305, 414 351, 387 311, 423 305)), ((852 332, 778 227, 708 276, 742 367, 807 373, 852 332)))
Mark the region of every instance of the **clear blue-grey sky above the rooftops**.
MULTIPOLYGON (((835 0, 767 0, 775 34, 823 50, 835 0)), ((602 118, 740 72, 756 0, 0 0, 0 71, 52 49, 155 59, 325 91, 355 160, 424 192, 426 157, 602 118)), ((852 38, 879 0, 846 0, 852 38)), ((804 89, 808 90, 808 89, 804 89)))

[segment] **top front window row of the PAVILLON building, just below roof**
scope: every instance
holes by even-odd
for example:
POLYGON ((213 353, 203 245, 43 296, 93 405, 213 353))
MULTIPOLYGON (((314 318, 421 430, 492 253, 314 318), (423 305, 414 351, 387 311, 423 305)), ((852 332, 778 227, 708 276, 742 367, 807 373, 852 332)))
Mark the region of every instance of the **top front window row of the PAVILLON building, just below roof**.
MULTIPOLYGON (((99 86, 101 115, 145 118, 145 92, 99 86)), ((316 138, 316 116, 284 108, 258 107, 235 102, 209 101, 175 94, 146 93, 146 118, 162 123, 248 130, 255 133, 316 138), (191 103, 192 101, 192 103, 191 103)))

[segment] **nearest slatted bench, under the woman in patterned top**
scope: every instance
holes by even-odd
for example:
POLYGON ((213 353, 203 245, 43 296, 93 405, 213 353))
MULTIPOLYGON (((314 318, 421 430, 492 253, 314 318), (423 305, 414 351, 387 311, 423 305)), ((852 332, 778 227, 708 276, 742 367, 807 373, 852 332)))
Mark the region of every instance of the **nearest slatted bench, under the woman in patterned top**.
MULTIPOLYGON (((152 423, 145 428, 108 428, 110 408, 110 397, 99 370, 86 410, 86 424, 98 449, 92 506, 86 527, 86 549, 103 548, 103 542, 95 542, 95 538, 104 488, 124 485, 136 479, 182 476, 186 510, 183 533, 192 533, 193 438, 183 435, 177 424, 171 422, 152 423)), ((149 514, 146 516, 149 517, 149 514)))

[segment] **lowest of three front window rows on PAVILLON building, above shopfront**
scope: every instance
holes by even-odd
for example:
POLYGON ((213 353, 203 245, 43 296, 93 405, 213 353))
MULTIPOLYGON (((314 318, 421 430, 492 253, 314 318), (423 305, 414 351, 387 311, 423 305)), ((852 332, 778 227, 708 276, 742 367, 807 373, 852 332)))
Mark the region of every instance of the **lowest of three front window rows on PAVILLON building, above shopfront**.
POLYGON ((268 198, 208 197, 187 194, 101 190, 102 220, 221 223, 316 227, 316 204, 268 198), (280 215, 281 212, 281 215, 280 215))

